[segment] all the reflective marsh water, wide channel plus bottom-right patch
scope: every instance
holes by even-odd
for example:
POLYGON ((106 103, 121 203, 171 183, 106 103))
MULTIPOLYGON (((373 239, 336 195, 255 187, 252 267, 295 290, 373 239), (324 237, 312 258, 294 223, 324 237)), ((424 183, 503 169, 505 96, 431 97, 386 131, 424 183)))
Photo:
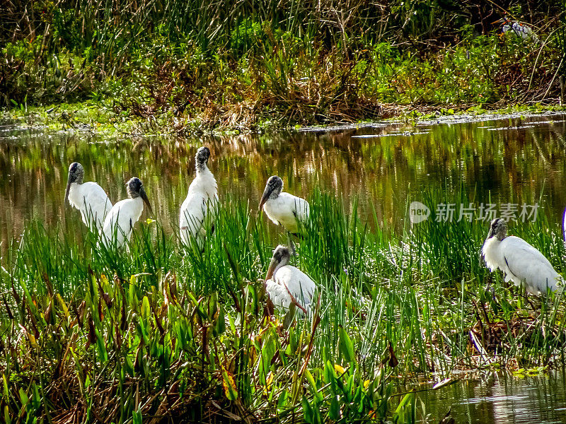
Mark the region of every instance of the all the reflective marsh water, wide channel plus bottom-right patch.
MULTIPOLYGON (((410 202, 422 201, 427 192, 463 190, 474 219, 484 218, 487 204, 496 209, 516 205, 517 220, 521 205, 538 204, 558 228, 566 206, 565 134, 566 117, 561 114, 199 139, 105 138, 89 131, 47 132, 5 122, 0 125, 0 256, 30 220, 46 227, 81 228, 78 211, 63 204, 67 169, 74 161, 84 166, 85 180, 98 182, 112 202, 126 196, 130 177, 139 177, 155 216, 175 232, 180 204, 195 174, 194 155, 203 144, 212 152, 209 167, 220 199, 248 202, 252 213, 257 213, 267 178, 279 175, 293 194, 308 196, 320 187, 337 193, 346 208, 357 199, 362 219, 373 219, 376 212, 373 225, 401 227, 409 218, 410 202), (71 225, 77 222, 79 226, 71 225)), ((457 219, 461 205, 454 207, 457 219)), ((462 379, 420 392, 422 415, 425 422, 438 423, 451 408, 456 423, 565 423, 565 384, 563 371, 462 379)))

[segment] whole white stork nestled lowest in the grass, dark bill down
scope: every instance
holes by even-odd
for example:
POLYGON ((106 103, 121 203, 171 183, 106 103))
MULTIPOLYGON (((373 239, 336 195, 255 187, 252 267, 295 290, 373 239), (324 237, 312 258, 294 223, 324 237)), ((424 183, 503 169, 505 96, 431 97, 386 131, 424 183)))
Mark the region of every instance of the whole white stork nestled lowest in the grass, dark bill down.
POLYGON ((279 245, 275 248, 265 276, 265 292, 273 305, 284 309, 296 305, 307 314, 316 284, 300 269, 287 265, 290 257, 288 247, 279 245))

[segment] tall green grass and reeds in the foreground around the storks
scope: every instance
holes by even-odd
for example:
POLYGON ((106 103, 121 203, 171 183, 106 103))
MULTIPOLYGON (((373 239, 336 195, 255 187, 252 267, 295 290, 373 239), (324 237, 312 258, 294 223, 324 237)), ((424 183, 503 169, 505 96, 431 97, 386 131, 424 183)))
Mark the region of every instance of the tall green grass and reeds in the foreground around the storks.
MULTIPOLYGON (((242 201, 224 201, 203 252, 158 221, 121 252, 98 249, 79 219, 29 223, 1 261, 5 420, 414 422, 415 394, 395 396, 397 382, 564 363, 563 302, 531 297, 532 310, 485 269, 487 223, 385 228, 357 202, 309 201, 291 261, 316 281, 316 307, 287 330, 282 314, 265 319, 261 281, 286 236, 242 201)), ((539 214, 510 232, 564 271, 558 224, 539 214)))

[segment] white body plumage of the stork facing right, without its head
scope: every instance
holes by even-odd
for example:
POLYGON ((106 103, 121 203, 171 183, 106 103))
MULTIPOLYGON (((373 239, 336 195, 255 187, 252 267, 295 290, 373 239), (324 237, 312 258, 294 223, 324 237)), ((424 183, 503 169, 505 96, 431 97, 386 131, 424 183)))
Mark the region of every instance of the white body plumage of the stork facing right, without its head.
POLYGON ((120 200, 112 206, 104 220, 102 241, 106 247, 122 247, 132 237, 132 229, 144 211, 141 197, 120 200))

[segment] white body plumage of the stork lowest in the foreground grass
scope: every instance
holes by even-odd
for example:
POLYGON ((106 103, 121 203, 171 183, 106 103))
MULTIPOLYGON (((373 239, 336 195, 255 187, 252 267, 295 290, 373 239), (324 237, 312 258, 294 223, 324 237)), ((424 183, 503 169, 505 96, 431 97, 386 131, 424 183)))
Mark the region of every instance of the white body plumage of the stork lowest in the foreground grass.
POLYGON ((265 291, 273 305, 288 309, 291 295, 305 310, 310 310, 313 293, 316 289, 314 281, 300 269, 291 265, 275 269, 272 278, 265 281, 265 291))

